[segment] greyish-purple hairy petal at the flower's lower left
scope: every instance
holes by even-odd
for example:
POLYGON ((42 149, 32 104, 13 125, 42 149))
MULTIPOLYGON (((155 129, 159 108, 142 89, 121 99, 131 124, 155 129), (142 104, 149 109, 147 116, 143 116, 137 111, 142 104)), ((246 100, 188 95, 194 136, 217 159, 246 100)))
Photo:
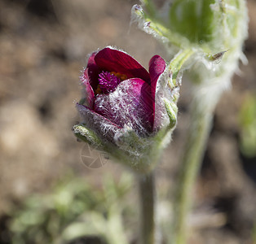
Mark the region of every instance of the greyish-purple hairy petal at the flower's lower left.
POLYGON ((97 114, 90 108, 77 103, 77 110, 82 116, 82 123, 86 125, 86 128, 91 129, 105 142, 114 142, 114 136, 121 130, 117 124, 104 118, 104 116, 97 114))

